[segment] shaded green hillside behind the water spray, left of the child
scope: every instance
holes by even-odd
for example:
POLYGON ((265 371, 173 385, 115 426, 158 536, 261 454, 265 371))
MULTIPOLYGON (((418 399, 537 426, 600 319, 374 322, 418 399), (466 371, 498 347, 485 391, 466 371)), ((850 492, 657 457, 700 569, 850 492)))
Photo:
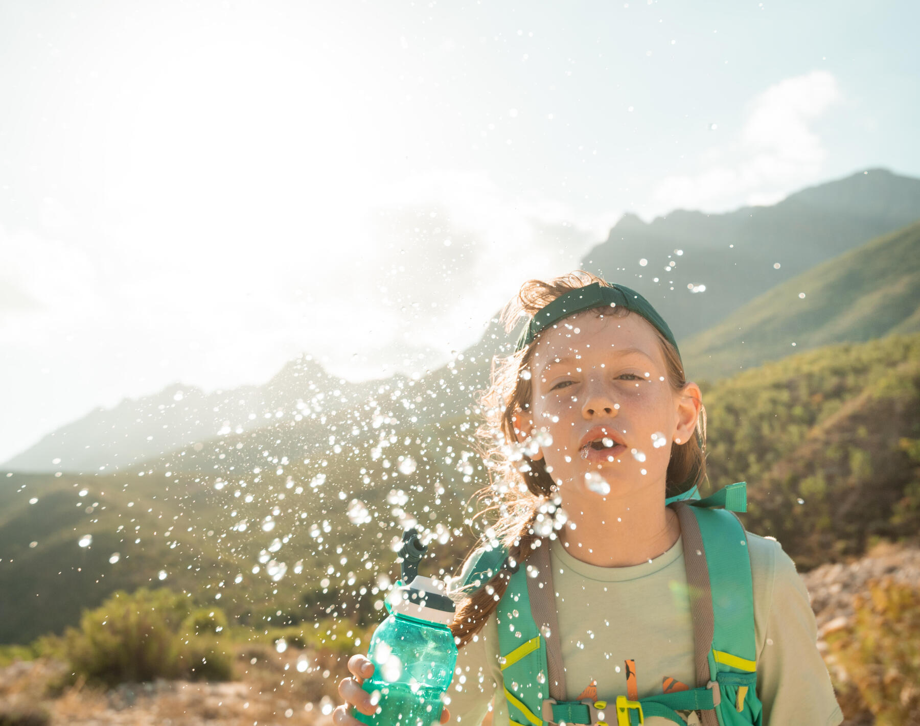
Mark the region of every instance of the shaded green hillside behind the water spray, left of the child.
MULTIPOLYGON (((201 456, 190 471, 164 460, 106 476, 0 475, 0 643, 60 632, 109 593, 151 583, 247 625, 379 617, 377 580, 397 579, 391 546, 404 524, 429 529, 431 554, 452 570, 475 541, 464 502, 484 479, 462 421, 443 435, 363 427, 360 445, 290 463, 277 455, 283 427, 272 425, 177 452, 173 463, 201 456), (204 464, 209 473, 194 471, 204 464)), ((290 433, 286 443, 303 451, 290 433)))

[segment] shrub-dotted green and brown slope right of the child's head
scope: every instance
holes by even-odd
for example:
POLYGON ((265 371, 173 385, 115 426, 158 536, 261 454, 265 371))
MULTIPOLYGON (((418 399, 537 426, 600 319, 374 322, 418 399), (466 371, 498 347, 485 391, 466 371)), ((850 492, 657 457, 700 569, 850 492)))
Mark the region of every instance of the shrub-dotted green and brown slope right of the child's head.
POLYGON ((799 569, 920 531, 920 335, 828 346, 704 386, 716 487, 799 569))

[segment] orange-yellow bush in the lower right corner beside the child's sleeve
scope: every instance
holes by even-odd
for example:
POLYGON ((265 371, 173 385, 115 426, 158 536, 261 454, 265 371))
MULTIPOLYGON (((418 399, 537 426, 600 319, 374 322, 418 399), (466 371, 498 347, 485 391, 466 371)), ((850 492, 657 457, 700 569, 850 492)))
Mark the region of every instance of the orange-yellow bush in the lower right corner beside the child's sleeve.
POLYGON ((891 578, 868 587, 854 597, 854 622, 826 637, 846 676, 841 705, 864 705, 877 726, 920 723, 920 587, 891 578))

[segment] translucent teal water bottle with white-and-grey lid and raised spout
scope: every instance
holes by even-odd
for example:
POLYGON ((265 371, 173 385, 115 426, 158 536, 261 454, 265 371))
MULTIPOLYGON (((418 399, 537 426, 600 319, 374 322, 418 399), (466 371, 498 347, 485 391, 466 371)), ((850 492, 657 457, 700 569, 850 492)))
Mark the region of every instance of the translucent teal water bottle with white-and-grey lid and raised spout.
POLYGON ((454 601, 444 583, 421 577, 419 561, 428 549, 418 532, 403 534, 399 550, 402 580, 385 600, 389 612, 371 638, 374 674, 362 688, 379 698, 377 712, 352 715, 371 726, 431 726, 441 720, 441 697, 451 685, 457 648, 450 624, 454 601))

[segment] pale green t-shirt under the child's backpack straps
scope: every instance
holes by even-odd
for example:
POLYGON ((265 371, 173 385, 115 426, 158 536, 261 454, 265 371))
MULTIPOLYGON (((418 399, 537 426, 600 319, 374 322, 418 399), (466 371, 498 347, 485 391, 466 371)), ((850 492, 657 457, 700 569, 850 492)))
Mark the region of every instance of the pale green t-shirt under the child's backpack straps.
MULTIPOLYGON (((835 726, 844 720, 816 646, 808 591, 775 539, 748 534, 757 646, 757 695, 765 726, 835 726)), ((627 693, 626 661, 635 662, 638 697, 661 694, 670 679, 693 687, 693 620, 684 547, 633 567, 605 568, 550 543, 558 639, 569 700, 615 700, 627 693)), ((467 567, 460 579, 472 564, 467 567)), ((553 634, 555 635, 555 634, 553 634)), ((448 695, 451 722, 478 726, 493 695, 493 726, 510 726, 499 667, 494 614, 476 640, 460 649, 448 695)), ((678 686, 679 687, 679 686, 678 686)), ((691 720, 694 722, 694 720, 691 720)), ((646 726, 668 726, 659 717, 646 726)))

